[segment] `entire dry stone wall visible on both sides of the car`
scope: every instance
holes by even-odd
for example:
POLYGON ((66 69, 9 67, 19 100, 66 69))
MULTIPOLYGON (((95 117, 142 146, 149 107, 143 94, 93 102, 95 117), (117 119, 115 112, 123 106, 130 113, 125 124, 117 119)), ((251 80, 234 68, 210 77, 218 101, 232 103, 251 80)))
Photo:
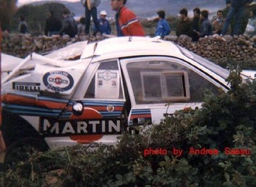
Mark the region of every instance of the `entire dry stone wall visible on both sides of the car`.
MULTIPOLYGON (((44 54, 83 40, 91 41, 96 39, 91 39, 86 35, 70 39, 68 35, 62 37, 57 35, 53 37, 32 37, 29 34, 3 32, 1 45, 3 53, 24 58, 32 52, 44 54)), ((169 35, 165 37, 165 40, 175 42, 179 46, 187 48, 217 64, 224 64, 228 58, 231 58, 235 62, 248 64, 249 67, 256 67, 256 36, 249 38, 244 35, 234 37, 230 35, 223 37, 213 35, 201 38, 197 42, 192 42, 192 39, 186 35, 181 35, 180 37, 169 35)))

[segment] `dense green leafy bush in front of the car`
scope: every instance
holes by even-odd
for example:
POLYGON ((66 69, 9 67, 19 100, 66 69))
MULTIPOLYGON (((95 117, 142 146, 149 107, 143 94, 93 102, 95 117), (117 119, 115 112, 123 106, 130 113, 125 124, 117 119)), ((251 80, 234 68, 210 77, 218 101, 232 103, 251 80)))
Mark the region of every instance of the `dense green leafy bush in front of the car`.
POLYGON ((227 93, 206 92, 200 109, 165 114, 160 125, 141 134, 123 134, 115 148, 35 153, 12 170, 2 169, 0 185, 255 186, 256 81, 242 82, 239 73, 230 72, 227 93), (174 147, 183 154, 175 156, 174 147), (225 147, 248 148, 250 154, 224 154, 225 147), (144 156, 147 148, 164 148, 167 154, 144 156), (189 154, 190 148, 219 152, 189 154))

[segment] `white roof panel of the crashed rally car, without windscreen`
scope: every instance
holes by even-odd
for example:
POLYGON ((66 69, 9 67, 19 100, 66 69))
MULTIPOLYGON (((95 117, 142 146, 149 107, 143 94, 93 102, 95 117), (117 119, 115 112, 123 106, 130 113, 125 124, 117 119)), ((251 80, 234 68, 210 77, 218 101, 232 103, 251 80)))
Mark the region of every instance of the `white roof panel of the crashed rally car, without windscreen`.
MULTIPOLYGON (((183 56, 176 44, 149 37, 116 37, 88 44, 81 58, 122 58, 143 55, 183 56)), ((99 60, 99 59, 97 59, 99 60)))

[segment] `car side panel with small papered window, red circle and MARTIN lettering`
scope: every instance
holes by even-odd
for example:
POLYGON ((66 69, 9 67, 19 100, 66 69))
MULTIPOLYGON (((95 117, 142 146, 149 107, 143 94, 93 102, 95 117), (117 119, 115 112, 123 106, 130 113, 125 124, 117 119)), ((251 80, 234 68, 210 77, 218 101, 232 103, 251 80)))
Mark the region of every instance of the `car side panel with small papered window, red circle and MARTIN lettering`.
MULTIPOLYGON (((93 62, 82 77, 65 112, 60 115, 58 132, 47 129, 50 147, 75 143, 98 142, 114 144, 123 131, 122 114, 125 105, 121 68, 118 60, 93 62), (80 108, 80 109, 79 109, 80 108), (78 109, 78 110, 77 110, 78 109), (60 139, 60 138, 59 138, 60 139)), ((55 123, 56 124, 56 123, 55 123)))

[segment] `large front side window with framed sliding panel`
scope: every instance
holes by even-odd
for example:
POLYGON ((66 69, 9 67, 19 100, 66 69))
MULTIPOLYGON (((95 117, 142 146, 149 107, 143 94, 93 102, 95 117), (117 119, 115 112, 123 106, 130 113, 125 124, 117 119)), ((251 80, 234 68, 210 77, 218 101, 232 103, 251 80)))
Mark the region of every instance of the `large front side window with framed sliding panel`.
POLYGON ((130 62, 127 71, 137 104, 202 102, 206 89, 218 93, 217 86, 175 62, 130 62))

